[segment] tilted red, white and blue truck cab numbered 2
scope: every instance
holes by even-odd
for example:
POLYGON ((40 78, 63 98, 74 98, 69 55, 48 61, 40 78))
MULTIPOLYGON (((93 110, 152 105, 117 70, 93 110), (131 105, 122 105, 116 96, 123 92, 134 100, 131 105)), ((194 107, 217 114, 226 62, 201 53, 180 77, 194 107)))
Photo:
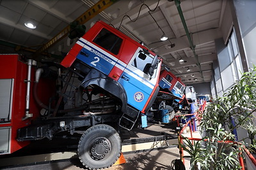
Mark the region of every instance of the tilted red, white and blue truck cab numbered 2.
POLYGON ((97 85, 120 99, 120 126, 127 130, 150 109, 159 91, 157 55, 102 21, 79 38, 61 65, 85 75, 81 86, 97 85))

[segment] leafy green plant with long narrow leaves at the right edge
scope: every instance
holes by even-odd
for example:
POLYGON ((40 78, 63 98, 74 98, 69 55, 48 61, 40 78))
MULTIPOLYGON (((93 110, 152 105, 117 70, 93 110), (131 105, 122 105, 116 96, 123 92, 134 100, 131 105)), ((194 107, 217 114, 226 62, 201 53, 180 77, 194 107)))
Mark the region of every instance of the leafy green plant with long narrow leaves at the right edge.
POLYGON ((243 73, 223 97, 215 99, 202 113, 200 131, 204 138, 195 145, 186 139, 182 145, 191 156, 191 169, 241 169, 238 155, 244 147, 252 150, 256 145, 255 111, 256 66, 243 73), (248 132, 250 143, 246 143, 248 138, 237 141, 236 130, 241 128, 248 132))

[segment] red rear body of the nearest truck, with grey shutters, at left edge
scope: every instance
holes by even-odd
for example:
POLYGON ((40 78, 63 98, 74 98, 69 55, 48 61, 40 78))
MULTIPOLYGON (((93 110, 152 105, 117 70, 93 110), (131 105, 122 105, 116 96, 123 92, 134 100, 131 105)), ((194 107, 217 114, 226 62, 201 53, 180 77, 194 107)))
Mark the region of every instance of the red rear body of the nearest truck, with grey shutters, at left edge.
MULTIPOLYGON (((35 72, 31 70, 31 88, 35 72)), ((28 65, 20 62, 17 54, 0 54, 0 155, 13 153, 29 144, 29 141, 16 140, 17 129, 31 124, 37 118, 40 109, 29 97, 29 113, 33 116, 22 120, 26 115, 26 89, 28 65)), ((45 92, 44 92, 45 93, 45 92)), ((45 97, 48 96, 45 93, 45 97)), ((42 95, 41 95, 42 96, 42 95)))

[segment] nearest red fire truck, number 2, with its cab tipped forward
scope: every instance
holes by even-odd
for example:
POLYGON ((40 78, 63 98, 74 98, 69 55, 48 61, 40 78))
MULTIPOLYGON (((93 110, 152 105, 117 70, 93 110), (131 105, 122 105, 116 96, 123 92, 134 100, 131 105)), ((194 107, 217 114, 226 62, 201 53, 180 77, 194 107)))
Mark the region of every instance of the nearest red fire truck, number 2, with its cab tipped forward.
POLYGON ((109 167, 120 157, 118 128, 146 127, 159 92, 161 59, 102 21, 79 38, 61 64, 33 66, 35 61, 25 63, 19 55, 0 55, 0 64, 1 154, 79 129, 84 133, 77 151, 84 166, 109 167))

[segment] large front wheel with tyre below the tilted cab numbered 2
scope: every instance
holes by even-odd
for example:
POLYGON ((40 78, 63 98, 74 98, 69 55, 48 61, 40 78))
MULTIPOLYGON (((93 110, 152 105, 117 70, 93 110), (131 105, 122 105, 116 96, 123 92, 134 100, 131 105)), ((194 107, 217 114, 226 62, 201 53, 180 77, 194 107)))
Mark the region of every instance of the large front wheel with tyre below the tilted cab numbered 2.
POLYGON ((94 125, 81 136, 78 156, 88 169, 101 169, 112 166, 120 157, 121 139, 109 125, 94 125))

